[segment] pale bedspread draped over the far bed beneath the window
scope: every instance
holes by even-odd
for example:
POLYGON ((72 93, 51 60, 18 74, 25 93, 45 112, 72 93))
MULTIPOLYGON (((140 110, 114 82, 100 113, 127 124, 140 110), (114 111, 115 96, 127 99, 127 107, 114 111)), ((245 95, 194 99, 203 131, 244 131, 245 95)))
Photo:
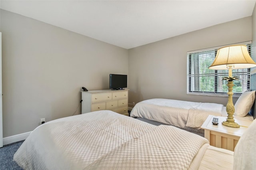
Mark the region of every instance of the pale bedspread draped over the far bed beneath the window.
POLYGON ((137 103, 131 117, 141 117, 176 127, 200 128, 208 115, 221 116, 223 105, 172 99, 149 99, 137 103))

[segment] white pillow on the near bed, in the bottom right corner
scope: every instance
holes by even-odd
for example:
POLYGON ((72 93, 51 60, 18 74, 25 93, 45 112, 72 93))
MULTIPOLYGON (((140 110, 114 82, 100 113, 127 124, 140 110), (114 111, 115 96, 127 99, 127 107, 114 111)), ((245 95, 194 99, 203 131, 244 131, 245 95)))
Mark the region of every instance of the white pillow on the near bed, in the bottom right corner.
POLYGON ((256 119, 245 130, 234 150, 234 170, 255 170, 256 168, 256 119))

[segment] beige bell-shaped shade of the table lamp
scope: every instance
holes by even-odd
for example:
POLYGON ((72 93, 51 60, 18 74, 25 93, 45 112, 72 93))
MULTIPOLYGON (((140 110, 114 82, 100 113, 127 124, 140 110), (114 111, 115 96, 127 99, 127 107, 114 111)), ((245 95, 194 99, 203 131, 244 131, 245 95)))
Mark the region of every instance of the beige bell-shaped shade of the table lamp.
POLYGON ((232 69, 256 67, 256 63, 250 57, 246 45, 230 45, 219 48, 212 65, 208 68, 225 70, 229 68, 228 65, 233 65, 232 69))

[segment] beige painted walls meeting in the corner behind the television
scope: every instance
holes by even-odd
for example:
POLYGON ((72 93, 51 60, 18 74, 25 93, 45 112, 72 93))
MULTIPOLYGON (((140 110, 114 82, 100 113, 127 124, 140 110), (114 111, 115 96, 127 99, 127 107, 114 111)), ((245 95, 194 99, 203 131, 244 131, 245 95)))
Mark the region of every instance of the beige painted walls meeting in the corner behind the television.
POLYGON ((40 118, 72 115, 80 88, 108 89, 109 73, 128 74, 129 103, 159 97, 226 105, 226 97, 186 94, 187 51, 252 39, 247 17, 126 50, 5 10, 0 15, 4 137, 33 130, 40 118))

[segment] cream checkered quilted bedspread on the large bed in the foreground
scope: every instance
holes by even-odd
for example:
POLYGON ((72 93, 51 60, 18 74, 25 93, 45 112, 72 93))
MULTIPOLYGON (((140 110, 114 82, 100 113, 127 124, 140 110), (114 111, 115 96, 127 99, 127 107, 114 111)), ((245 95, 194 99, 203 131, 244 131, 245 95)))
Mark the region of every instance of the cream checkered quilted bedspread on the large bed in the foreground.
POLYGON ((14 161, 31 170, 183 170, 207 142, 176 127, 96 111, 40 125, 14 154, 14 161))

